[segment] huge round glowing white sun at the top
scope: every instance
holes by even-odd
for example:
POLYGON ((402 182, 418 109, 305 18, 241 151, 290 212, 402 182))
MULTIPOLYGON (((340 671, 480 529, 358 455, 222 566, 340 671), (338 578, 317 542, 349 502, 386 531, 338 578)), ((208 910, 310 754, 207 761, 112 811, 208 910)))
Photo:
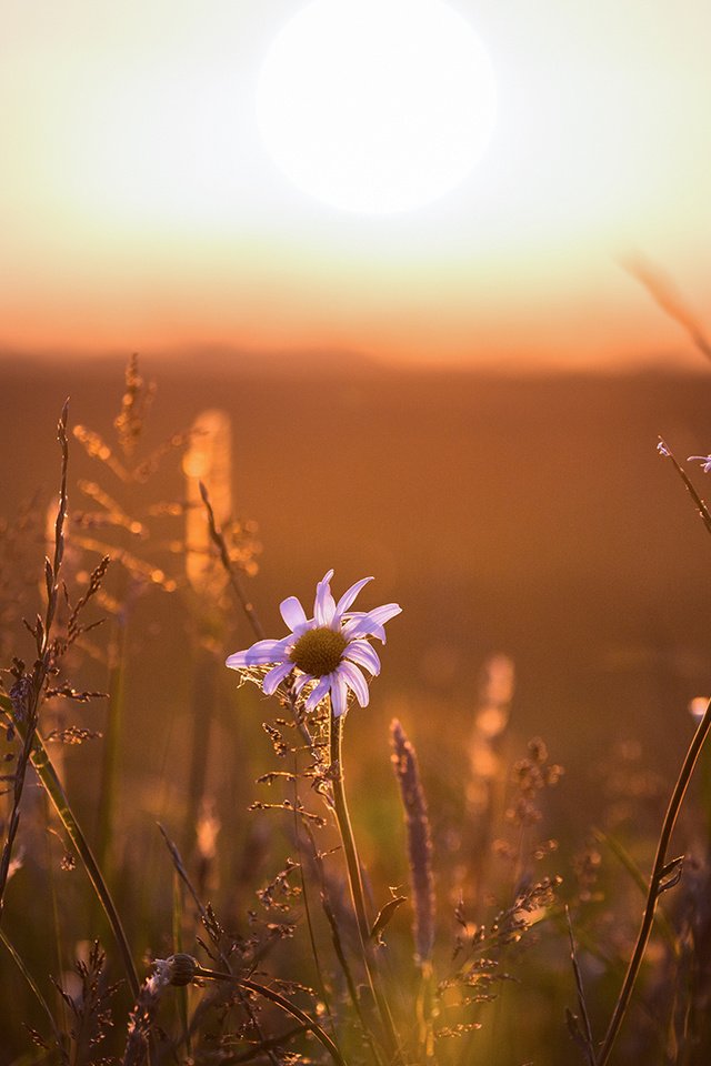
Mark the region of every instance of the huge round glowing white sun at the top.
POLYGON ((344 211, 411 211, 471 173, 493 132, 491 62, 443 0, 312 0, 277 36, 257 120, 281 171, 344 211))

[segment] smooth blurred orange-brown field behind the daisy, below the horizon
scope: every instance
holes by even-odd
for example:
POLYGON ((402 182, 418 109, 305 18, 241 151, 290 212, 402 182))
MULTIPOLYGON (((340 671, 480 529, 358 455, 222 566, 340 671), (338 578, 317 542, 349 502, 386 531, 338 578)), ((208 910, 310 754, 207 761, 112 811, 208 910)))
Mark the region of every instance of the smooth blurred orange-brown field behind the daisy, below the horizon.
MULTIPOLYGON (((431 693, 450 722, 465 714, 478 664, 505 651, 523 734, 554 731, 574 758, 603 748, 608 728, 644 727, 662 762, 673 755, 670 721, 683 727, 687 702, 709 687, 711 567, 655 444, 662 434, 681 459, 711 449, 705 376, 394 374, 350 361, 142 370, 158 383, 146 451, 202 409, 232 420, 236 510, 259 524, 250 589, 269 632, 279 600, 311 595, 329 566, 343 584, 372 573, 378 602, 402 603, 373 723, 395 692, 431 693)), ((73 422, 110 436, 122 364, 6 365, 1 386, 11 514, 36 490, 51 499, 66 395, 73 422)), ((76 443, 71 464, 77 477, 100 473, 76 443)), ((178 457, 163 467, 150 492, 180 496, 178 457)))

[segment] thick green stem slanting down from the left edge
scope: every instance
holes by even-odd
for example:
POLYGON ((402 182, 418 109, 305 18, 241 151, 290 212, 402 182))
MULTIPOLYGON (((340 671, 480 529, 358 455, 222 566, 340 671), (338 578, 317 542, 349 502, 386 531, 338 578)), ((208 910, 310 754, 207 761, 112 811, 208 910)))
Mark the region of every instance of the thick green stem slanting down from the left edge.
MULTIPOLYGON (((12 722, 12 725, 17 730, 20 738, 24 741, 28 725, 27 723, 16 718, 12 713, 12 704, 4 695, 0 695, 0 707, 8 716, 9 721, 12 722)), ((64 826, 69 839, 76 847, 79 857, 83 863, 89 881, 91 882, 93 891, 97 894, 101 906, 103 907, 109 925, 111 926, 111 931, 116 937, 121 957, 123 959, 123 965, 126 967, 129 985, 131 986, 131 992, 133 993, 134 997, 138 998, 141 986, 136 972, 136 966, 133 965, 133 959, 131 957, 131 949, 121 924, 121 918, 119 917, 119 913, 111 897, 111 893, 109 892, 109 888, 103 879, 99 864, 97 863, 81 826, 77 822, 77 818, 74 817, 69 805, 69 800, 67 798, 67 794, 64 793, 61 782, 57 776, 57 771, 52 765, 49 753, 44 747, 39 734, 37 733, 34 734, 32 742, 30 760, 37 776, 40 780, 40 784, 49 796, 50 803, 54 807, 60 822, 64 826)))

